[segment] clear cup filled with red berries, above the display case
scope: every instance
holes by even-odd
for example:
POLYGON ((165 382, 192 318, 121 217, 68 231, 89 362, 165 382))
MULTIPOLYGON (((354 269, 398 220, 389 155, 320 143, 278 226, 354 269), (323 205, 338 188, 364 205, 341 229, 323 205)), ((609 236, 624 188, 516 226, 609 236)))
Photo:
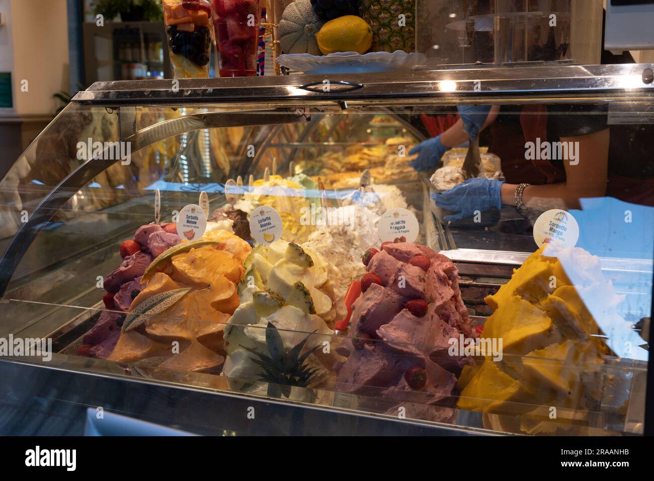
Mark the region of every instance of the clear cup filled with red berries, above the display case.
POLYGON ((220 77, 254 77, 261 0, 211 0, 220 77))

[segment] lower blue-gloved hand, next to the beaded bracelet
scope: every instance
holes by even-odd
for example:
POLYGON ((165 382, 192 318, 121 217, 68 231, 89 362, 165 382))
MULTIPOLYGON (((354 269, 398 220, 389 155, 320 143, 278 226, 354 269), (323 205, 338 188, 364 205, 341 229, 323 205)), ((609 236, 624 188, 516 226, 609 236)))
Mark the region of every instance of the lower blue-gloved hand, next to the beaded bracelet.
POLYGON ((448 211, 445 221, 462 221, 474 215, 475 211, 487 211, 492 207, 502 208, 502 184, 504 181, 490 179, 468 179, 447 192, 432 194, 436 205, 448 211))

